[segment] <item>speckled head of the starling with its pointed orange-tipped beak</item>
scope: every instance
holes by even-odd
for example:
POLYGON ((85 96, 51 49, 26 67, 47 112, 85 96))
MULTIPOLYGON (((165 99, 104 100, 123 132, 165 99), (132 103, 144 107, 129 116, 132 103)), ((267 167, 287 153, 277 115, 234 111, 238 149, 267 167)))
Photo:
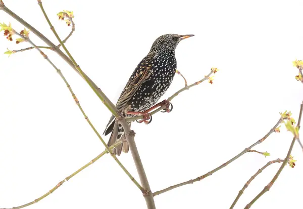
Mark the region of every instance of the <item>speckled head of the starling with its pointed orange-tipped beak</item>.
POLYGON ((175 52, 179 42, 194 35, 165 34, 157 38, 149 53, 175 52))

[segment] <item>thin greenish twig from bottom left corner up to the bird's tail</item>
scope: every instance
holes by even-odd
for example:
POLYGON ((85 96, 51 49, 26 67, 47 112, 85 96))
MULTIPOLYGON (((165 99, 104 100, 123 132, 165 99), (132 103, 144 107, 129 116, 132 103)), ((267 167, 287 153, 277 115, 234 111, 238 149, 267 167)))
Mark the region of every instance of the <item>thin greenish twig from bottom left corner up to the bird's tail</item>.
MULTIPOLYGON (((110 149, 112 150, 114 147, 118 146, 122 142, 123 141, 119 141, 119 142, 114 143, 112 146, 110 146, 110 149)), ((19 209, 19 208, 27 207, 27 206, 29 206, 31 204, 37 203, 41 199, 43 199, 43 198, 47 197, 48 195, 52 194, 61 185, 63 185, 65 182, 67 182, 68 180, 70 180, 71 178, 73 178, 74 176, 76 176, 78 173, 80 173, 81 171, 83 171, 84 169, 86 169, 89 165, 91 165, 92 163, 94 163, 95 161, 97 161, 100 157, 102 157, 106 153, 108 153, 108 151, 104 150, 98 156, 96 156, 95 158, 93 158, 92 160, 90 160, 88 163, 86 163, 85 165, 83 165, 80 169, 78 169, 77 171, 75 171, 74 173, 72 173, 71 175, 69 175, 68 177, 66 177, 65 179, 63 179, 62 181, 60 181, 55 187, 53 187, 51 190, 49 190, 48 192, 46 192, 45 194, 43 194, 39 198, 35 199, 34 201, 31 201, 29 203, 26 203, 26 204, 23 204, 23 205, 20 205, 20 206, 16 206, 16 207, 12 207, 12 208, 2 208, 2 209, 19 209)))

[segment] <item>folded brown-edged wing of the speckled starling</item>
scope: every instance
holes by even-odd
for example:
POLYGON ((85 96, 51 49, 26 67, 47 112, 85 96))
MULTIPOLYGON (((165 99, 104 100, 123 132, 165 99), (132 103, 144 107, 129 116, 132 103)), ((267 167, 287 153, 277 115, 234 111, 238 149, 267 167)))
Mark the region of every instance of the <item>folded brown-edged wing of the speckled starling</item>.
POLYGON ((118 110, 122 110, 125 107, 142 82, 144 82, 144 80, 146 80, 153 72, 154 66, 151 64, 151 61, 153 60, 154 56, 155 54, 150 53, 138 64, 118 99, 116 105, 118 110))

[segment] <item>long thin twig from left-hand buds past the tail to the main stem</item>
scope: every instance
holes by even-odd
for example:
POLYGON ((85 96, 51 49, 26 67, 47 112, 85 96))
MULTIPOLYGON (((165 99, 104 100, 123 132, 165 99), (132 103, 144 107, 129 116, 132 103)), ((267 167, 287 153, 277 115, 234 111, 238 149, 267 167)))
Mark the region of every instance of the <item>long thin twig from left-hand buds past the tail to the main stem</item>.
MULTIPOLYGON (((28 43, 30 43, 35 49, 37 49, 40 54, 43 56, 44 59, 46 59, 55 69, 56 71, 59 73, 59 75, 61 76, 61 78, 64 80, 66 86, 68 87, 73 99, 75 100, 77 106, 79 107, 81 113, 83 114, 84 118, 86 119, 86 121, 88 122, 89 126, 92 128, 92 130, 94 131, 94 133, 97 135, 97 137, 99 138, 100 141, 102 141, 104 144, 104 140, 102 139, 101 135, 98 133, 98 131, 95 129, 95 127, 93 126, 93 124, 91 123, 91 121, 88 119, 86 113, 84 112, 84 110, 82 109, 79 100, 77 99, 76 95, 74 94, 71 86, 69 85, 68 81, 66 80, 66 78, 64 77, 64 75, 62 74, 61 70, 59 70, 56 65, 47 57, 46 54, 44 54, 28 37, 25 37, 23 35, 21 35, 20 33, 14 31, 15 34, 19 35, 20 37, 24 38, 28 43)), ((130 178, 130 180, 141 190, 143 191, 143 188, 141 187, 141 185, 134 179, 134 177, 127 171, 127 169, 124 167, 124 165, 120 162, 120 160, 116 157, 116 155, 113 154, 113 152, 109 149, 108 146, 106 146, 106 150, 111 153, 111 155, 113 156, 113 158, 115 159, 115 161, 120 165, 121 169, 127 174, 127 176, 130 178)))

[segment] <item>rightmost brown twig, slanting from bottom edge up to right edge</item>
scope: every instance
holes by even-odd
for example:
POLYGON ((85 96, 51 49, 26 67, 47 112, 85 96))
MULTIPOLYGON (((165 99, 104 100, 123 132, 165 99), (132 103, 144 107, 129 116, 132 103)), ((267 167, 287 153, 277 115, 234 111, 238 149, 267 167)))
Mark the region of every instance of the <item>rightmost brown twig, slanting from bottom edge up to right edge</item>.
MULTIPOLYGON (((303 102, 302 104, 300 105, 300 111, 299 111, 299 119, 298 119, 298 123, 297 123, 297 127, 300 127, 300 123, 301 123, 301 117, 302 117, 302 111, 303 111, 303 102)), ((279 170, 277 171, 276 175, 274 176, 274 178, 269 182, 268 185, 266 185, 264 187, 264 189, 254 198, 252 199, 245 207, 244 209, 248 209, 251 207, 252 204, 254 204, 263 194, 265 194, 266 192, 268 192, 270 190, 270 188, 273 186, 273 184, 275 183, 275 181, 278 179, 278 177, 280 176, 282 170, 284 169, 286 163, 288 162, 289 160, 289 156, 291 154, 291 151, 292 151, 292 148, 293 148, 293 145, 294 145, 294 142, 295 140, 297 139, 298 137, 293 137, 292 141, 291 141, 291 144, 289 146, 289 149, 288 149, 288 152, 287 152, 287 155, 283 161, 283 163, 281 164, 279 170)))

